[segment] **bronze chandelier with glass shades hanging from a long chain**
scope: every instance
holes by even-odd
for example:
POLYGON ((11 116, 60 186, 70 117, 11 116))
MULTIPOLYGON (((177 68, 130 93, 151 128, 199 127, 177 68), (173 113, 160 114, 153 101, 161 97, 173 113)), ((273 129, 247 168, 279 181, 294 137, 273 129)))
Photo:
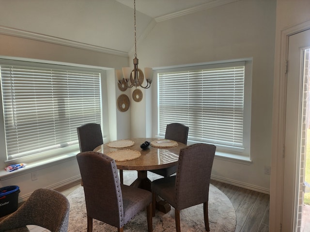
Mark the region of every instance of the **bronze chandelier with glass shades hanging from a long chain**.
POLYGON ((142 87, 149 88, 151 87, 152 79, 153 79, 153 69, 145 68, 144 74, 138 68, 139 59, 137 58, 137 37, 136 37, 136 0, 134 0, 134 24, 135 24, 135 58, 134 58, 134 69, 132 70, 130 67, 123 67, 121 70, 116 70, 116 77, 118 80, 118 87, 121 90, 126 90, 131 87, 142 87), (142 86, 144 77, 146 80, 146 86, 142 86))

